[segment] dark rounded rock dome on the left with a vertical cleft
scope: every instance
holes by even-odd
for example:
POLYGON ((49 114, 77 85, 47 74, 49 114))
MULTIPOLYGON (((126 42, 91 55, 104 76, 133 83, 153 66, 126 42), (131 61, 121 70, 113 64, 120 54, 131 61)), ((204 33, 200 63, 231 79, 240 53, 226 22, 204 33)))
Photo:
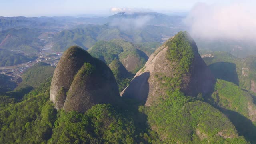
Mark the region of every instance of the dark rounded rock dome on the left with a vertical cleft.
POLYGON ((54 71, 50 100, 57 109, 84 112, 95 104, 117 104, 120 96, 110 68, 82 48, 72 46, 54 71))

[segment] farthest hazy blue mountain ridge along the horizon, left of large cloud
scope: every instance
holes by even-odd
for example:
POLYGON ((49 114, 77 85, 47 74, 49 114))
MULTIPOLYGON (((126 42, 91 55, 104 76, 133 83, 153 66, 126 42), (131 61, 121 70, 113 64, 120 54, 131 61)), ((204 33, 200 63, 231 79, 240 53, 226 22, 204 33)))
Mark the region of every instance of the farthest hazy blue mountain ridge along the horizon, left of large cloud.
POLYGON ((112 16, 94 16, 94 17, 74 17, 74 16, 54 16, 54 17, 0 17, 0 31, 9 28, 43 28, 43 29, 59 29, 68 26, 76 26, 83 24, 106 24, 112 22, 114 18, 136 18, 138 16, 152 16, 154 19, 149 25, 174 26, 180 24, 182 16, 168 16, 156 12, 135 12, 132 14, 120 12, 112 16), (169 19, 169 20, 168 20, 169 19), (158 22, 157 22, 158 20, 158 22))

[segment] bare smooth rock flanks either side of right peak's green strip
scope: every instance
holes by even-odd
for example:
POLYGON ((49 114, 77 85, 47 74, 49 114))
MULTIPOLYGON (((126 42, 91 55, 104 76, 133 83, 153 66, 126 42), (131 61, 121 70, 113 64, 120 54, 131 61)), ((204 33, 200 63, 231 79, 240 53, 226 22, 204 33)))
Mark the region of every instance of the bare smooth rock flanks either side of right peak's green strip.
MULTIPOLYGON (((172 40, 169 39, 168 41, 172 40)), ((214 90, 215 78, 198 54, 197 46, 192 40, 194 60, 189 74, 182 77, 181 90, 188 96, 206 94, 214 90)), ((145 102, 150 106, 159 96, 165 96, 167 87, 161 85, 156 75, 172 77, 173 66, 166 57, 168 46, 163 44, 148 59, 144 68, 137 72, 130 85, 123 90, 121 96, 145 102)))

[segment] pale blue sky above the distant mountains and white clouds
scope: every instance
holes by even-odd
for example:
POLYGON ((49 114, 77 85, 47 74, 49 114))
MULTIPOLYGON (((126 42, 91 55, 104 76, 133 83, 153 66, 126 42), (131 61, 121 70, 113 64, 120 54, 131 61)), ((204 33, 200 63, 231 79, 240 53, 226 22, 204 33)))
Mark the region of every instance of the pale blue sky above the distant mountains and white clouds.
POLYGON ((237 0, 0 0, 0 16, 111 15, 112 7, 170 13, 189 11, 198 2, 225 5, 234 1, 237 0))

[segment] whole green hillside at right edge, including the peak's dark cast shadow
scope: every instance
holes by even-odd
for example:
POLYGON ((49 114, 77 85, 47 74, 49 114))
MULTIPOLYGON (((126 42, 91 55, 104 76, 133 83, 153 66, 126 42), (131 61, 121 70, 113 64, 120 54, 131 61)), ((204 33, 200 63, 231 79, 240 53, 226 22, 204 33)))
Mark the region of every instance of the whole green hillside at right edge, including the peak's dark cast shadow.
POLYGON ((227 52, 212 52, 202 57, 216 78, 221 79, 210 102, 228 116, 246 140, 255 143, 255 56, 236 58, 227 52))

